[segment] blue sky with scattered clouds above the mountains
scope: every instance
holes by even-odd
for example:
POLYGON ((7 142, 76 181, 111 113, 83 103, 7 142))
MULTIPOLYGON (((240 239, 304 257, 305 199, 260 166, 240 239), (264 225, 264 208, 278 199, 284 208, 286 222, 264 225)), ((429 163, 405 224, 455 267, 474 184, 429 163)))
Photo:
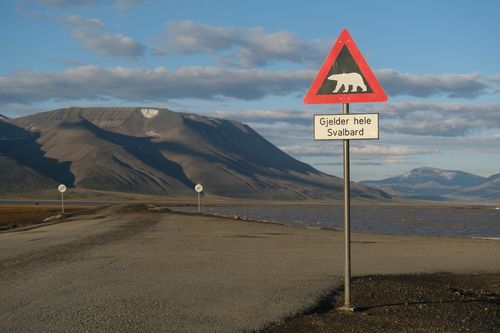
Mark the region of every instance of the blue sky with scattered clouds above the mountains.
POLYGON ((146 106, 249 124, 319 170, 302 98, 347 28, 389 96, 380 139, 352 143, 354 180, 432 166, 500 172, 498 1, 12 0, 0 3, 0 114, 146 106))

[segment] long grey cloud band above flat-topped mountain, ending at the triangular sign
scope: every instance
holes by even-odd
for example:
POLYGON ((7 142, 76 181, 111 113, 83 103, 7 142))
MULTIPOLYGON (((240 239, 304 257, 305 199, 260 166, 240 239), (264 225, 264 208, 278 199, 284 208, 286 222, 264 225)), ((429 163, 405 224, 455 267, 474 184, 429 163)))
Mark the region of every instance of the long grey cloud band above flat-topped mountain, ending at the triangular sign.
POLYGON ((0 76, 0 103, 48 100, 166 101, 176 98, 242 100, 288 95, 303 89, 310 71, 258 71, 184 67, 169 71, 89 65, 59 72, 26 71, 0 76))

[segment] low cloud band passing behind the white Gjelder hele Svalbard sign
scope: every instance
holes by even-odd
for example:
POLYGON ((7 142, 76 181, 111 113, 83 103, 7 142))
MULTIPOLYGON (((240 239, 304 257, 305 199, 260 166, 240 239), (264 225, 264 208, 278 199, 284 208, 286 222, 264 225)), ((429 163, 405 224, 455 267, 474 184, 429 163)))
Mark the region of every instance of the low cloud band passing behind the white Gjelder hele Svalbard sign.
MULTIPOLYGON (((364 104, 358 111, 379 113, 385 133, 457 137, 500 129, 500 104, 402 102, 364 104)), ((250 123, 302 124, 312 130, 313 112, 305 110, 218 111, 214 115, 250 123)))

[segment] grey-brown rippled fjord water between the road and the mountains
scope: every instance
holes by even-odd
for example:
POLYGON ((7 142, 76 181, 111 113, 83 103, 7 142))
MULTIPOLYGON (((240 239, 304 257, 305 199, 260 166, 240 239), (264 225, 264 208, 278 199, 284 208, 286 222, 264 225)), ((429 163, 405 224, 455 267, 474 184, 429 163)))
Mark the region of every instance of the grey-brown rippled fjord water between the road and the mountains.
MULTIPOLYGON (((169 207, 195 212, 197 207, 169 207)), ((258 221, 316 228, 343 228, 338 205, 207 206, 204 213, 240 216, 258 221)), ((477 206, 353 205, 351 230, 389 235, 500 237, 500 209, 477 206)))

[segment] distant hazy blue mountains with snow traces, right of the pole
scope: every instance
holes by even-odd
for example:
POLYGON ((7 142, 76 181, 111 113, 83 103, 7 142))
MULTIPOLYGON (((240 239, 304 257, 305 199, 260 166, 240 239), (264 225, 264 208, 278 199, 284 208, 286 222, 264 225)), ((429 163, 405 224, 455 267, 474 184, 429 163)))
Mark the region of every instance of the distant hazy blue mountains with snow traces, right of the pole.
POLYGON ((407 199, 500 202, 500 173, 486 178, 463 171, 424 167, 361 183, 407 199))

